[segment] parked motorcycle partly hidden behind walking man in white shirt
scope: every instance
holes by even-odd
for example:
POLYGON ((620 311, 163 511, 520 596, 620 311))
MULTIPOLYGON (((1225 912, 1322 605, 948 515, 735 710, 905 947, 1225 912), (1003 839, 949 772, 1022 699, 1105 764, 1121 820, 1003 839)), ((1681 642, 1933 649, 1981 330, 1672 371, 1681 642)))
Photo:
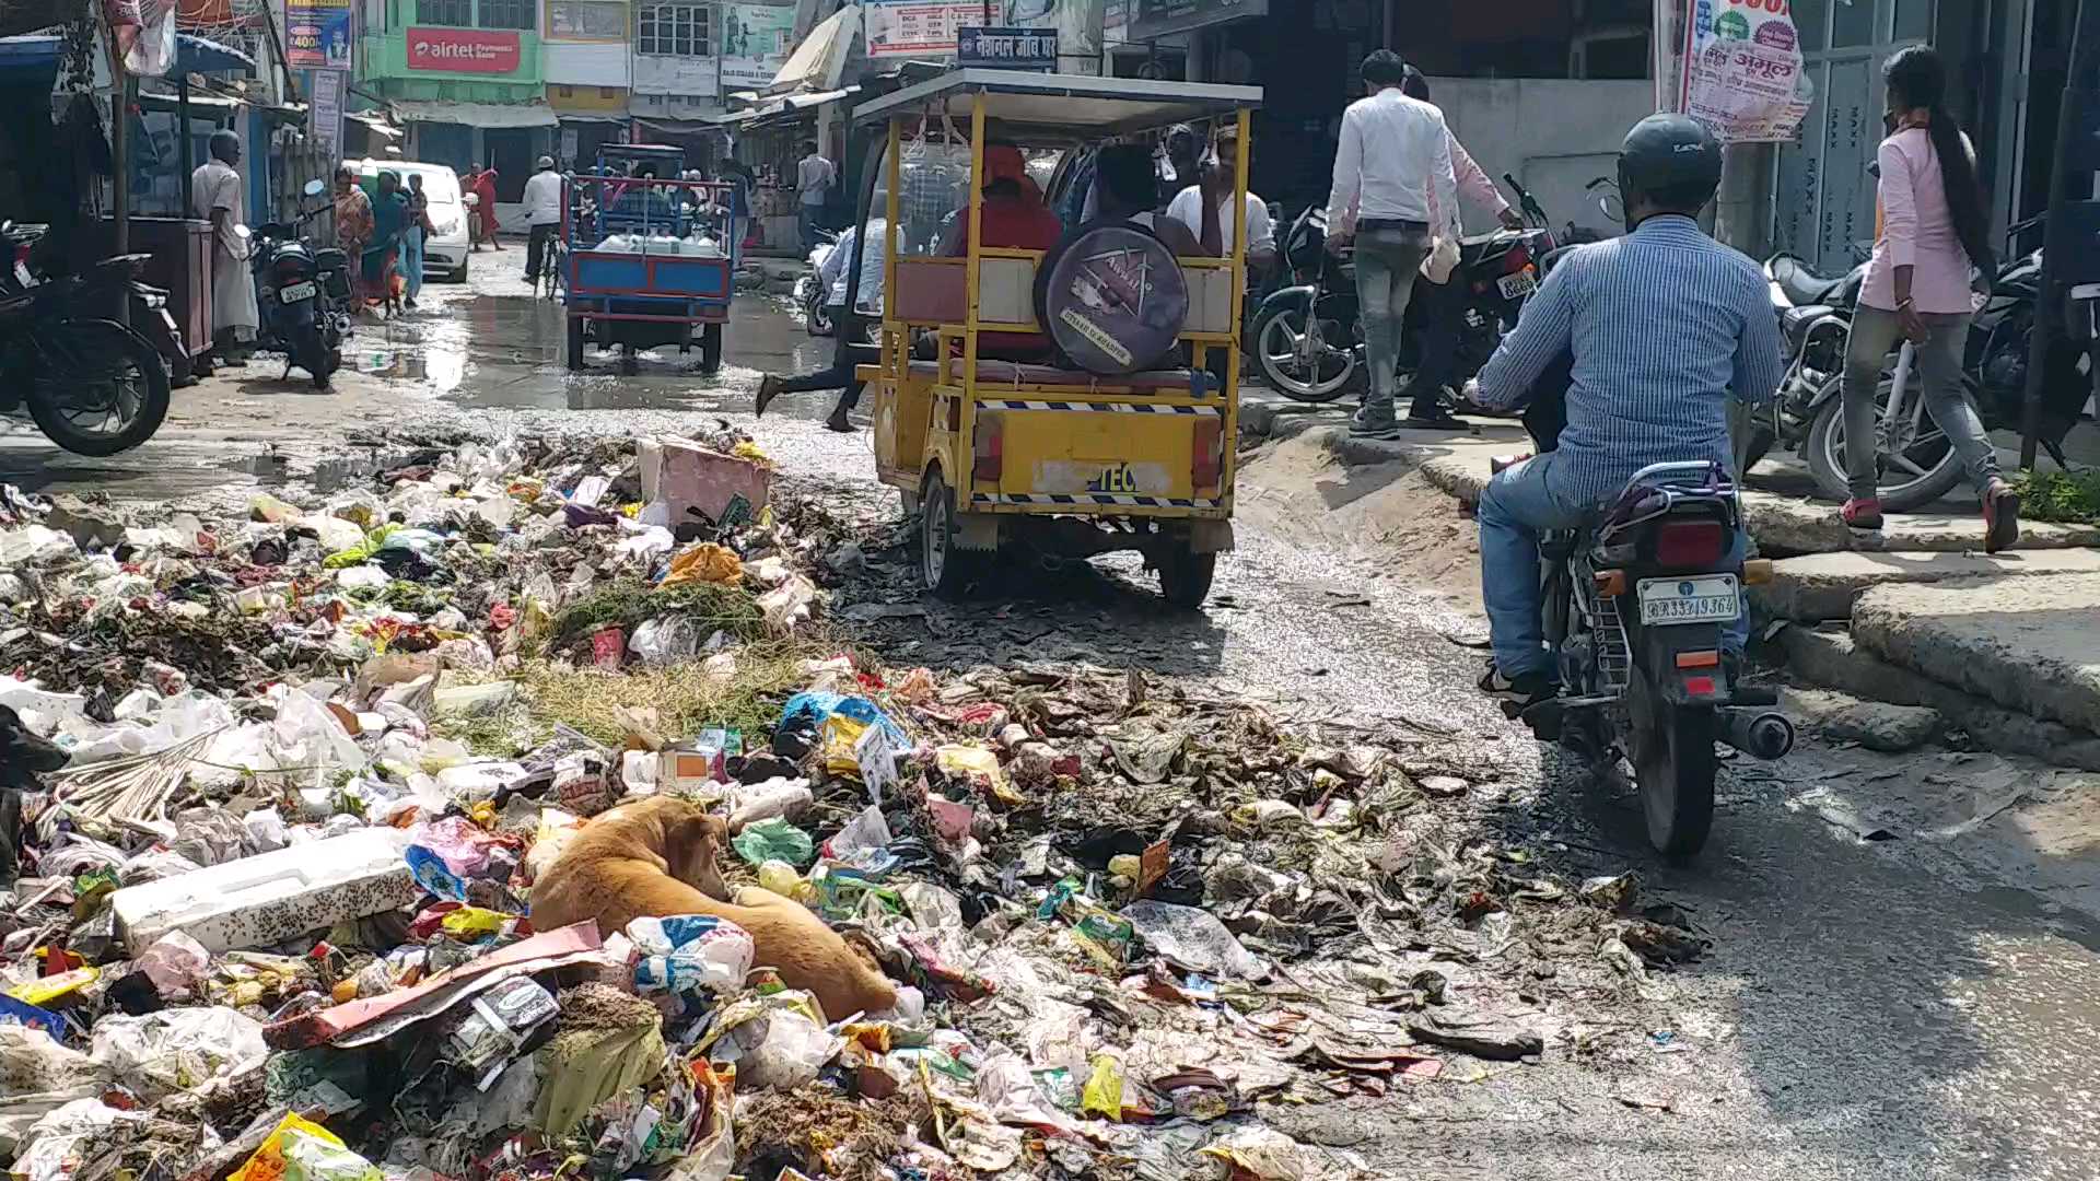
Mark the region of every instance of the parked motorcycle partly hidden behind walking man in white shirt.
MULTIPOLYGON (((1453 374, 1457 385, 1495 355, 1502 334, 1516 324, 1516 313, 1537 290, 1537 258, 1554 248, 1554 233, 1539 204, 1514 177, 1504 174, 1502 181, 1516 191, 1525 229, 1497 229, 1460 242, 1460 263, 1449 279, 1464 284, 1468 296, 1453 374)), ((1283 235, 1281 254, 1296 282, 1273 292, 1254 313, 1254 357, 1277 393, 1298 401, 1334 401, 1365 380, 1354 265, 1327 252, 1323 206, 1298 214, 1283 235)), ((1418 355, 1420 328, 1409 322, 1401 340, 1401 370, 1413 368, 1418 355)))

